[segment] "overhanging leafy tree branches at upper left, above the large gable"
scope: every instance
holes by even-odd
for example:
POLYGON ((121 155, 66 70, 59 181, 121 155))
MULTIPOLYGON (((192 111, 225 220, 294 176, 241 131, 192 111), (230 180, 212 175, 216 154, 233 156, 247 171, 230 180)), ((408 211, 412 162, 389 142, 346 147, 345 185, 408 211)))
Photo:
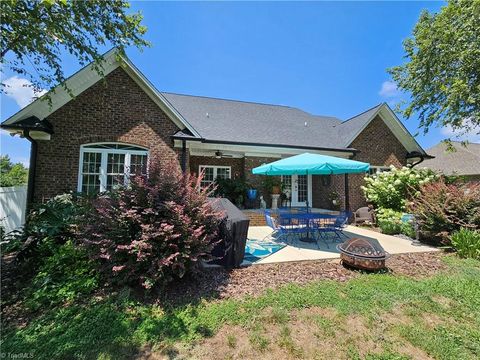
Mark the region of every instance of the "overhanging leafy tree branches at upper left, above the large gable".
MULTIPOLYGON (((142 15, 127 13, 129 6, 124 0, 1 0, 2 65, 26 77, 38 92, 64 82, 62 50, 83 66, 100 60, 101 45, 120 52, 147 46, 142 15), (9 53, 14 56, 6 60, 9 53)), ((102 73, 98 63, 95 68, 102 73)))

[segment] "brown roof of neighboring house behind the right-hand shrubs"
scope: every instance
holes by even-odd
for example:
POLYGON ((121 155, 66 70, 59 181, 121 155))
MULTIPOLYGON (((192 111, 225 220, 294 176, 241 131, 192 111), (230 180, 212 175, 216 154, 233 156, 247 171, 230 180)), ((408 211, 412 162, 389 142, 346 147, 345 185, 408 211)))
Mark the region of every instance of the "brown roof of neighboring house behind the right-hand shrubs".
POLYGON ((425 160, 421 166, 445 175, 460 175, 465 180, 480 182, 480 144, 462 145, 452 141, 452 146, 455 150, 449 151, 447 144, 440 142, 428 149, 428 153, 435 158, 425 160))

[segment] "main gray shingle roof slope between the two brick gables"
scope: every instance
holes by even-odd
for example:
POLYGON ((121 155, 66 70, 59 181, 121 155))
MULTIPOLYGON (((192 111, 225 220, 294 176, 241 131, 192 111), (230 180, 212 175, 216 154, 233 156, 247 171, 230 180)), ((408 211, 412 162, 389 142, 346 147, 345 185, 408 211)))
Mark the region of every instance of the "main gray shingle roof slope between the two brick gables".
POLYGON ((212 141, 345 149, 345 140, 362 128, 373 111, 342 123, 336 117, 312 115, 289 106, 162 95, 202 138, 212 141))

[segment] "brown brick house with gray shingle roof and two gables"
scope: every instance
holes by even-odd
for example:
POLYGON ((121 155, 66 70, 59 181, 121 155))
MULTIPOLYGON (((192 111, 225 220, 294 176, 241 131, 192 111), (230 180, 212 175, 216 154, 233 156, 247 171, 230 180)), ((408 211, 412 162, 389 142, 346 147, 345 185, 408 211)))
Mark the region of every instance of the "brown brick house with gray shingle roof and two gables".
MULTIPOLYGON (((3 122, 2 128, 32 142, 30 198, 108 190, 127 169, 147 157, 178 161, 184 171, 246 178, 261 189, 251 169, 303 152, 369 162, 373 170, 402 166, 428 155, 387 104, 346 121, 300 109, 159 92, 130 62, 105 54, 105 81, 87 66, 67 80, 75 98, 58 86, 52 106, 41 99, 3 122)), ((128 174, 127 174, 128 176, 128 174)), ((123 178, 123 177, 122 177, 123 178)), ((126 178, 126 176, 125 176, 126 178)), ((328 195, 347 189, 349 205, 365 204, 363 175, 284 177, 292 205, 329 208, 328 195)))

